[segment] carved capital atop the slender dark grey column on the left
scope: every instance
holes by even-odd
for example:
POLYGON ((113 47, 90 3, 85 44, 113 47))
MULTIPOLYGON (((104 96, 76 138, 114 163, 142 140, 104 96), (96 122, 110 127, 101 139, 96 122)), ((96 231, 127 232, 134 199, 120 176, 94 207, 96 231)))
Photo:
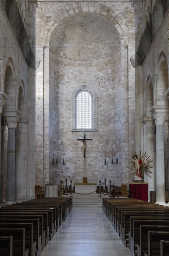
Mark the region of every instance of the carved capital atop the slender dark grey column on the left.
POLYGON ((20 115, 21 113, 19 109, 6 109, 3 111, 3 116, 6 119, 8 129, 16 129, 20 115))

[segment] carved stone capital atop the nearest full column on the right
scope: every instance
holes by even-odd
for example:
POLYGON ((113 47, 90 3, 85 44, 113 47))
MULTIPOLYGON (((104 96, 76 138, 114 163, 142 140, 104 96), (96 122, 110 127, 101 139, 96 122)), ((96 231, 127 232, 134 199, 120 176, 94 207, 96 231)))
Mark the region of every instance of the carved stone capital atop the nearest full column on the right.
POLYGON ((164 122, 168 121, 169 110, 153 106, 150 111, 156 125, 164 125, 164 122))

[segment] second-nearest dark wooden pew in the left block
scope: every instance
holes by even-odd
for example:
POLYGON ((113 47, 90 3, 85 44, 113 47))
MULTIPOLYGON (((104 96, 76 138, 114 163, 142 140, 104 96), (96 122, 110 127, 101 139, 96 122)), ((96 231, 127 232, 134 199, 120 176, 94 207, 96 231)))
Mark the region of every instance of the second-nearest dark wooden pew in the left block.
POLYGON ((13 236, 13 256, 28 256, 25 250, 25 229, 0 229, 1 236, 13 236))

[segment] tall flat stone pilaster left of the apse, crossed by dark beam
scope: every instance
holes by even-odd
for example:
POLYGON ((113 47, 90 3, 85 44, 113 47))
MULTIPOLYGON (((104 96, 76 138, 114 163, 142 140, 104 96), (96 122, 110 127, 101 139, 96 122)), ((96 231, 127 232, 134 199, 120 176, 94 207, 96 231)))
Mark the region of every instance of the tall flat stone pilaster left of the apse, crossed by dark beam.
MULTIPOLYGON (((32 39, 31 48, 35 55, 35 39, 36 39, 36 8, 37 0, 28 0, 28 36, 32 39)), ((34 59, 35 61, 35 59, 34 59)), ((34 199, 35 189, 35 70, 28 68, 29 90, 28 90, 28 113, 30 120, 27 125, 27 151, 29 154, 29 161, 27 161, 26 171, 26 191, 28 192, 27 199, 34 199)))

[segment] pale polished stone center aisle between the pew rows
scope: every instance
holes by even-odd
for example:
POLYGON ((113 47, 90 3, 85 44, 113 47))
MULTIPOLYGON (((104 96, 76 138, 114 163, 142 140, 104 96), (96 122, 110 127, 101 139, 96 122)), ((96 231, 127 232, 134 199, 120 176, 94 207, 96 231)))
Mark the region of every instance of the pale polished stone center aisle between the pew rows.
POLYGON ((74 207, 41 256, 131 256, 102 208, 74 207))

